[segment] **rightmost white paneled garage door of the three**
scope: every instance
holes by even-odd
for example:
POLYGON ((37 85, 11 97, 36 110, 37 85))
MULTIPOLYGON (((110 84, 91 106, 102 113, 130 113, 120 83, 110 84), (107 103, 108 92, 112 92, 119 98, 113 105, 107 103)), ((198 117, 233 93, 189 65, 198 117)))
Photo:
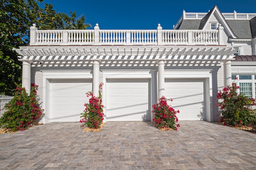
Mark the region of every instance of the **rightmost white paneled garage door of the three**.
POLYGON ((169 105, 175 110, 179 120, 205 119, 204 107, 204 81, 193 79, 167 79, 165 80, 166 98, 172 98, 169 105))

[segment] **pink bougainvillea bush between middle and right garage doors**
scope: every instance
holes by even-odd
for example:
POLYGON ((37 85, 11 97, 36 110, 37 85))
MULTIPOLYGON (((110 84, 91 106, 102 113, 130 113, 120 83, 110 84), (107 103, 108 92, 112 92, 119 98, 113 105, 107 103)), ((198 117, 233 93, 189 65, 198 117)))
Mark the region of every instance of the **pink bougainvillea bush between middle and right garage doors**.
MULTIPOLYGON (((159 129, 177 130, 177 127, 180 127, 180 124, 176 124, 178 122, 176 114, 180 113, 180 111, 175 111, 169 106, 167 100, 169 99, 162 96, 160 102, 152 106, 152 113, 154 115, 153 124, 159 129)), ((170 101, 172 101, 172 99, 170 99, 170 101)))

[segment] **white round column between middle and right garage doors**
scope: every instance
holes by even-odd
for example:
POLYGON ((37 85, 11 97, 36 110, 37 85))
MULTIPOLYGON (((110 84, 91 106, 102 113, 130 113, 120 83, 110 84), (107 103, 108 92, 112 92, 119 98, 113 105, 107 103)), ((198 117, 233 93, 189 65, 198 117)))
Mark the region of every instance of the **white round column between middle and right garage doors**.
POLYGON ((165 95, 164 93, 164 60, 158 60, 158 98, 165 95))

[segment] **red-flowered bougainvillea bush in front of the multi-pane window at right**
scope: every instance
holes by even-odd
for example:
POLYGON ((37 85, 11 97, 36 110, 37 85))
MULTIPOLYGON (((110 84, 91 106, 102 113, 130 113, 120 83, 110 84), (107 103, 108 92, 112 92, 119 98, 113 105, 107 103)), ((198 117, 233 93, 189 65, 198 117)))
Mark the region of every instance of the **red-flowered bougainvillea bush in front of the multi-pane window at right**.
POLYGON ((250 107, 255 105, 255 99, 248 98, 242 93, 237 94, 235 83, 232 86, 226 86, 219 91, 218 107, 221 111, 220 122, 228 126, 241 126, 252 124, 256 120, 254 110, 250 107))

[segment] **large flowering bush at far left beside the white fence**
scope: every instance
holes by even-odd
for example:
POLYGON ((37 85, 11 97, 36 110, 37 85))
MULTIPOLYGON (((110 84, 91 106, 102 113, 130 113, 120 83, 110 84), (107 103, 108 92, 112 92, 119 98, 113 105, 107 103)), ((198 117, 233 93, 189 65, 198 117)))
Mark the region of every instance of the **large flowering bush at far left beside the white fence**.
POLYGON ((16 88, 14 98, 4 106, 6 111, 0 118, 0 127, 10 131, 24 131, 44 115, 44 110, 38 104, 37 88, 32 84, 30 96, 25 88, 16 88))

